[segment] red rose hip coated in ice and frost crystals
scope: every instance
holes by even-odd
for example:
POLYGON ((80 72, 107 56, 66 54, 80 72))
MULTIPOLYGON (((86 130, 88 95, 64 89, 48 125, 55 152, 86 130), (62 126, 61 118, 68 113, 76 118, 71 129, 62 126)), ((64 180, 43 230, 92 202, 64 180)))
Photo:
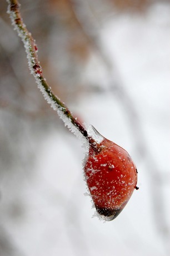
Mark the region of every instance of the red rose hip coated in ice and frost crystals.
POLYGON ((113 220, 137 188, 137 169, 128 152, 112 141, 89 145, 84 166, 88 189, 97 212, 113 220))

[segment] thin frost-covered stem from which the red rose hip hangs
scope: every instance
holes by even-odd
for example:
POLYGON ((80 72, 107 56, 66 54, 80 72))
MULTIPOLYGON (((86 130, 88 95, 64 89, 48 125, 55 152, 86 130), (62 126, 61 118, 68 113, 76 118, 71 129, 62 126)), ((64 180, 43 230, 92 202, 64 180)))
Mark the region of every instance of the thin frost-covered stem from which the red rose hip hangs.
POLYGON ((19 12, 20 4, 17 0, 7 0, 7 2, 8 13, 11 17, 14 29, 17 31, 18 36, 21 37, 26 49, 29 70, 36 79, 38 88, 41 90, 44 98, 47 100, 48 104, 51 104, 51 107, 57 111, 59 117, 61 117, 65 126, 68 126, 69 130, 74 132, 77 137, 83 135, 89 143, 94 144, 94 140, 91 136, 88 136, 86 129, 84 129, 77 118, 72 115, 68 107, 56 95, 54 95, 51 87, 49 87, 46 81, 46 78, 44 78, 42 67, 38 61, 38 48, 36 41, 28 31, 26 25, 23 23, 21 13, 19 12))

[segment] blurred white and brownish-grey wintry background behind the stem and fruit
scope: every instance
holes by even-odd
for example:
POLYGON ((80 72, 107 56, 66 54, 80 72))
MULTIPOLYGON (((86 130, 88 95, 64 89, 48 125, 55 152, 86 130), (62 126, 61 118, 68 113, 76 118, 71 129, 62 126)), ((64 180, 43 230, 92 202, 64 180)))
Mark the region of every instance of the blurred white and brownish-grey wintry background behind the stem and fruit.
POLYGON ((139 190, 115 220, 92 218, 81 141, 43 99, 1 1, 0 255, 169 255, 170 1, 20 3, 54 93, 129 152, 139 190))

